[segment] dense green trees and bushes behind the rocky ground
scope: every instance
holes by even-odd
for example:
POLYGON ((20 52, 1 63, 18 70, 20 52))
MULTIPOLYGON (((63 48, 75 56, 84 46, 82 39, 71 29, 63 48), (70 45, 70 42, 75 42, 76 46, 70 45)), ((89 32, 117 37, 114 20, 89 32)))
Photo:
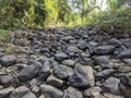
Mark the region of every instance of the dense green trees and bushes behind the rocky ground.
POLYGON ((122 32, 129 32, 131 28, 129 1, 0 0, 0 28, 90 25, 106 29, 121 28, 122 32), (103 10, 104 1, 106 1, 106 10, 103 10))

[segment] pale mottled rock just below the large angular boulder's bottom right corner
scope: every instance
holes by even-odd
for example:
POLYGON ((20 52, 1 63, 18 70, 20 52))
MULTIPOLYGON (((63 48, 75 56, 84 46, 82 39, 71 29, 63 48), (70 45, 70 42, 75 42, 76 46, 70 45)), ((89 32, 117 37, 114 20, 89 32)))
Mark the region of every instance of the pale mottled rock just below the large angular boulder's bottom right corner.
POLYGON ((99 93, 100 93, 102 90, 103 90, 103 89, 102 89, 100 87, 98 87, 98 86, 96 86, 96 87, 91 87, 91 88, 88 88, 88 89, 85 89, 84 93, 83 93, 83 95, 84 95, 85 97, 93 97, 93 96, 95 96, 96 94, 100 95, 99 93))

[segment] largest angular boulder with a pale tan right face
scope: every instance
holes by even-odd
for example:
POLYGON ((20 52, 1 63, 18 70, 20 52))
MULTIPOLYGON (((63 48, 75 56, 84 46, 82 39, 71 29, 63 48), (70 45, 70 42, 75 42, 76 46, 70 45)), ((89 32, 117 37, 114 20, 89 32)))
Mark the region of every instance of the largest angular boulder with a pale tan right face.
POLYGON ((91 66, 76 65, 73 75, 69 76, 68 79, 74 87, 94 86, 93 69, 91 66))

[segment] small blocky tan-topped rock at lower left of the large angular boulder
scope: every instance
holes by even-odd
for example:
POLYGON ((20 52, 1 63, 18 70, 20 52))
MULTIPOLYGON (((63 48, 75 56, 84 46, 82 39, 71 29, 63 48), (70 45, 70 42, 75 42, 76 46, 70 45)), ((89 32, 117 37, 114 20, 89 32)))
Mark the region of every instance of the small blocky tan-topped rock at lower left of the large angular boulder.
POLYGON ((50 75, 50 76, 47 78, 47 84, 52 85, 52 86, 55 86, 55 87, 57 87, 57 88, 60 88, 60 87, 62 87, 62 85, 63 85, 63 81, 55 77, 53 75, 50 75))

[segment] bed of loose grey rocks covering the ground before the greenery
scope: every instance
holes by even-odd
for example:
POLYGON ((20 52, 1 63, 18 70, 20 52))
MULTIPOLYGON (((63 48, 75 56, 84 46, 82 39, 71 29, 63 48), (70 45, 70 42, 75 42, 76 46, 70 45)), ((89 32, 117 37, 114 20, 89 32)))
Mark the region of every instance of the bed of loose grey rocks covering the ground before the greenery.
POLYGON ((0 49, 0 98, 131 98, 131 38, 17 30, 10 46, 11 54, 0 49))

